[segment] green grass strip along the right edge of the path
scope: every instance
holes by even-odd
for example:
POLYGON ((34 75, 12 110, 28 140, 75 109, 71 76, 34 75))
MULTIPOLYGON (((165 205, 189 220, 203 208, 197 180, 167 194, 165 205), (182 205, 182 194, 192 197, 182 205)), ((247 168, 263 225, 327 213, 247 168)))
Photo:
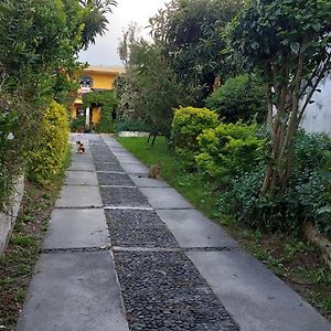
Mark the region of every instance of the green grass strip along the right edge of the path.
POLYGON ((215 184, 199 173, 183 173, 179 157, 163 137, 158 137, 153 147, 147 143, 147 138, 117 138, 117 141, 146 166, 160 163, 163 180, 209 218, 222 224, 245 249, 331 321, 331 273, 316 247, 303 239, 265 234, 220 215, 215 184))

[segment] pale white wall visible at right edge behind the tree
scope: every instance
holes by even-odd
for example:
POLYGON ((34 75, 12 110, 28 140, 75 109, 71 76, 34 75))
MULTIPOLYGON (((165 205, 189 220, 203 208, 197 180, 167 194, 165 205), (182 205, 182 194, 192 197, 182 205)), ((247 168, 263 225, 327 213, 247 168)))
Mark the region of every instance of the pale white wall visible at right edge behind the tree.
POLYGON ((325 132, 331 135, 331 75, 319 86, 321 93, 312 97, 314 104, 309 105, 301 126, 308 132, 325 132))

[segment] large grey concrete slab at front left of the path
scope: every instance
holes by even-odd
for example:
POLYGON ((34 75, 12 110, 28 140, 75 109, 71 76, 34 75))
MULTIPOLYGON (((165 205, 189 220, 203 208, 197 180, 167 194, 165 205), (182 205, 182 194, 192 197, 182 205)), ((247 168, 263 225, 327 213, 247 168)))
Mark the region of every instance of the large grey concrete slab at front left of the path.
POLYGON ((109 252, 44 254, 19 331, 128 331, 109 252))

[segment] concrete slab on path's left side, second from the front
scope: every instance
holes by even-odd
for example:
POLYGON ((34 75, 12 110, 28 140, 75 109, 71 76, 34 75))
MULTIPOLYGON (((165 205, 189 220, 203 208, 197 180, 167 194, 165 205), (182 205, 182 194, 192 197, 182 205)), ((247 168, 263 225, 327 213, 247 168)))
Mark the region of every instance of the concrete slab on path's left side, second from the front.
POLYGON ((109 244, 103 210, 54 210, 43 248, 88 248, 109 244))

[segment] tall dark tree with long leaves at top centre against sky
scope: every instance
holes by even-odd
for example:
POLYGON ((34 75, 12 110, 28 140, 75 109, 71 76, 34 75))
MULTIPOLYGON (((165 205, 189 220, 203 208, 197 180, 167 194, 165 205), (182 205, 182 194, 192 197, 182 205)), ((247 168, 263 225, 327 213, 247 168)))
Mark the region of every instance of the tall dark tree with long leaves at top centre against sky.
POLYGON ((212 92, 215 77, 226 74, 222 33, 242 7, 242 0, 173 0, 150 19, 151 34, 164 46, 164 56, 190 87, 197 105, 212 92))

